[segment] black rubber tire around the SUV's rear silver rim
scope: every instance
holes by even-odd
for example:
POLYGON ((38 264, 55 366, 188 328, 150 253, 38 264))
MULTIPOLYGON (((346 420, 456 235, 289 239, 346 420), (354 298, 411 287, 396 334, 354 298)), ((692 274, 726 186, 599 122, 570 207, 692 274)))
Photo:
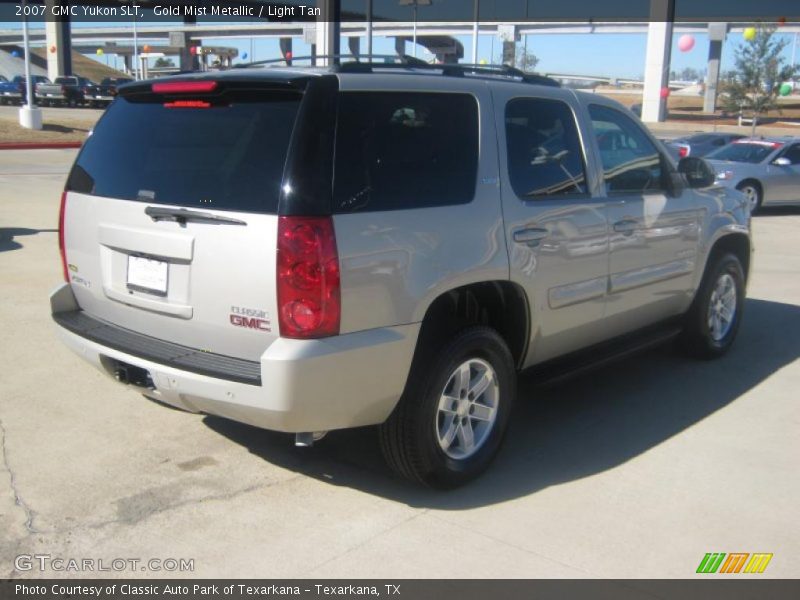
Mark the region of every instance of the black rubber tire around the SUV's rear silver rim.
MULTIPOLYGON (((435 354, 424 350, 414 359, 403 397, 380 426, 381 449, 389 465, 403 477, 430 487, 449 489, 480 475, 500 449, 516 395, 516 372, 508 346, 489 327, 463 329, 435 354), (496 398, 496 413, 494 424, 474 453, 466 458, 453 458, 439 443, 437 419, 442 418, 439 400, 451 375, 469 360, 488 363, 494 371, 497 388, 492 394, 496 398)), ((478 396, 483 397, 483 394, 478 396)), ((454 413, 454 421, 458 418, 454 413)), ((473 417, 467 419, 472 431, 473 417)), ((475 425, 476 431, 480 426, 479 423, 475 425)), ((460 439, 454 443, 460 445, 460 439)))

